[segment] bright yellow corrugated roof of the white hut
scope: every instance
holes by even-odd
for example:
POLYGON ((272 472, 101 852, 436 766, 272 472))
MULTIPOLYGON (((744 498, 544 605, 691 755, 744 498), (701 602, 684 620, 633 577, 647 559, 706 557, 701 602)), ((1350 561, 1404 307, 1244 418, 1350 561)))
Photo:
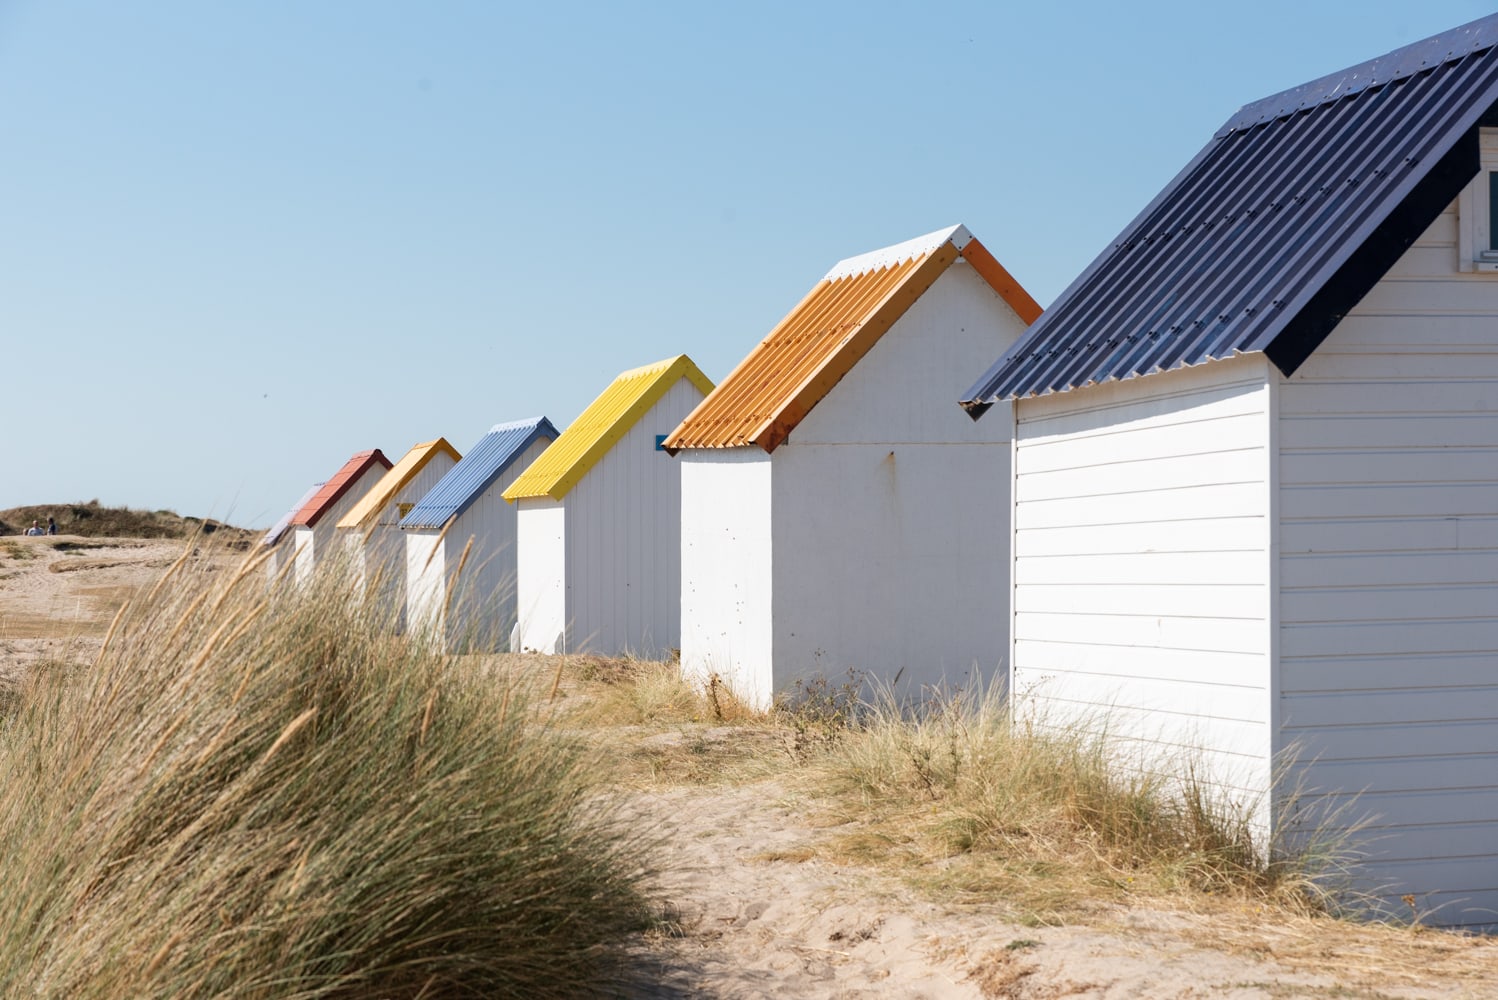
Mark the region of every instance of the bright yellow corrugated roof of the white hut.
POLYGON ((713 382, 686 355, 658 361, 620 374, 593 400, 562 436, 520 473, 505 500, 551 497, 560 500, 620 437, 679 380, 688 379, 703 394, 713 382))

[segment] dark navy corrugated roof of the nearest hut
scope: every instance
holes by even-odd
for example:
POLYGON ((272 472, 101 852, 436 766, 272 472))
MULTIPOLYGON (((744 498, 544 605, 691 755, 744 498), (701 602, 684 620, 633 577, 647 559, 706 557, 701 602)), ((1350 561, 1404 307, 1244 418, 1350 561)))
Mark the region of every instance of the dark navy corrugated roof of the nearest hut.
POLYGON ((1291 374, 1479 169, 1498 15, 1242 108, 969 389, 1264 352, 1291 374))

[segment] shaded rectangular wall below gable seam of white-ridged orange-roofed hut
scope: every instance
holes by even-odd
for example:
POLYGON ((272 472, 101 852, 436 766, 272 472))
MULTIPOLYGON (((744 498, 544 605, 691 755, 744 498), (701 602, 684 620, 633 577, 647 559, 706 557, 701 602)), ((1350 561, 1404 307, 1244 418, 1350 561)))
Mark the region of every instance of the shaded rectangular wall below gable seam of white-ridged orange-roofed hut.
MULTIPOLYGON (((1007 434, 1007 418, 990 410, 981 422, 1007 434)), ((849 671, 917 695, 1001 680, 1008 481, 1007 440, 782 445, 774 689, 816 674, 842 683, 849 671)))

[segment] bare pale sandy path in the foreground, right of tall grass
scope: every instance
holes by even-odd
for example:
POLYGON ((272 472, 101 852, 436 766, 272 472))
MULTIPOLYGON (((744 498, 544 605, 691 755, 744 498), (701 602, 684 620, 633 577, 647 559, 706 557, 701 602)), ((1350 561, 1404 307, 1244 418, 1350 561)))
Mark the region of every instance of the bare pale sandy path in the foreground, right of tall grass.
MULTIPOLYGON (((668 840, 659 891, 680 936, 653 943, 659 997, 980 1000, 995 997, 1498 997, 1492 976, 1426 981, 1368 967, 1350 942, 1308 940, 1314 924, 1153 909, 1110 912, 1088 927, 1022 927, 1002 906, 948 907, 896 879, 804 856, 825 835, 777 781, 671 789, 635 802, 668 840), (1324 958, 1306 958, 1321 952, 1324 958), (1287 954, 1290 961, 1278 961, 1287 954)), ((1324 930, 1324 928, 1323 928, 1324 930)))

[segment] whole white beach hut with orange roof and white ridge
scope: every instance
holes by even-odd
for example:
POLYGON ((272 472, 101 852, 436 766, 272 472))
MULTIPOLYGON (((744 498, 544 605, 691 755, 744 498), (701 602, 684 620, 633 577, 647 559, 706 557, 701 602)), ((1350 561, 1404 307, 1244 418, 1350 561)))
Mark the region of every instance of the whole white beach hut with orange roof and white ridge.
POLYGON ((767 707, 821 674, 999 668, 1010 427, 956 406, 1040 307, 963 226, 839 262, 665 440, 682 668, 767 707))

